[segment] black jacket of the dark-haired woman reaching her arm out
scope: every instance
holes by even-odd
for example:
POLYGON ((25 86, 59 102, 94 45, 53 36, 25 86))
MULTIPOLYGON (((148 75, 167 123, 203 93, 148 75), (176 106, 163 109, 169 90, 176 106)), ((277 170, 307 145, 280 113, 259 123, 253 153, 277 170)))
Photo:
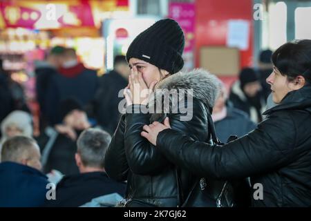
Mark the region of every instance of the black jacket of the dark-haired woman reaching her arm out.
POLYGON ((157 148, 197 175, 250 177, 254 193, 263 191, 263 198, 252 194, 253 206, 311 206, 311 87, 288 93, 265 114, 254 131, 224 146, 211 148, 167 129, 157 148))

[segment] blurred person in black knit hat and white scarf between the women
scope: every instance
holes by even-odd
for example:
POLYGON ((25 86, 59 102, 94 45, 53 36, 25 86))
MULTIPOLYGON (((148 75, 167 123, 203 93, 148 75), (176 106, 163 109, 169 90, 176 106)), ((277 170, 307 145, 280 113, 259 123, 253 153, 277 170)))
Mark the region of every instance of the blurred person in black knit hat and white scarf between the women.
POLYGON ((252 122, 261 122, 266 100, 258 74, 253 68, 241 70, 238 80, 232 85, 229 101, 235 108, 247 113, 252 122))

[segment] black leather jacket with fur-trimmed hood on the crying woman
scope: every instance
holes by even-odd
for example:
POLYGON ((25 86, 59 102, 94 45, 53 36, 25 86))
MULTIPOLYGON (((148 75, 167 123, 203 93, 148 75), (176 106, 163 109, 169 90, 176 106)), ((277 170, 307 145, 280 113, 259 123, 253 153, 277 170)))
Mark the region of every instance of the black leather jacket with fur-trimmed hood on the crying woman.
MULTIPOLYGON (((189 121, 180 121, 180 117, 185 114, 168 114, 171 128, 194 140, 202 142, 209 140, 207 108, 214 104, 216 97, 214 91, 217 85, 214 78, 202 71, 196 75, 194 73, 175 75, 177 76, 168 77, 162 83, 162 88, 187 88, 186 86, 193 83, 191 85, 194 85, 192 87, 194 99, 188 102, 188 105, 193 106, 193 117, 189 121), (199 81, 205 83, 204 88, 196 84, 199 81)), ((140 107, 134 105, 129 108, 140 107)), ((188 170, 180 169, 169 162, 155 146, 140 135, 142 127, 153 122, 151 119, 153 117, 154 115, 143 113, 126 113, 122 116, 106 152, 106 173, 115 180, 127 180, 127 199, 143 200, 158 206, 178 206, 182 196, 187 196, 197 179, 188 170), (180 177, 179 188, 177 174, 180 177)))

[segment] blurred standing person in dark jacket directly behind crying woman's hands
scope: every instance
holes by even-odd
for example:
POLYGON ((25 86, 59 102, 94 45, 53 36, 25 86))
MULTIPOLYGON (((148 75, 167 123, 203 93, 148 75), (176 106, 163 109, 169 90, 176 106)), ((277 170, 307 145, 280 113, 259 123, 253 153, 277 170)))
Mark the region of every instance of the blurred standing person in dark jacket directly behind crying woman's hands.
POLYGON ((94 111, 98 124, 106 131, 113 134, 120 119, 118 109, 123 94, 119 96, 120 90, 126 87, 130 73, 129 64, 124 55, 117 55, 113 61, 113 70, 100 78, 94 99, 94 111))

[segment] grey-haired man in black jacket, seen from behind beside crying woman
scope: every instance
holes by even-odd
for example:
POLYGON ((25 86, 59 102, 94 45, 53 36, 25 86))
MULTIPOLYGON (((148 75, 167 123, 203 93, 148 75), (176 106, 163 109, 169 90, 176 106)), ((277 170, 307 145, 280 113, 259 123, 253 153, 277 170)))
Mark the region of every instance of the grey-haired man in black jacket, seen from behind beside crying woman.
MULTIPOLYGON (((111 135, 100 129, 90 128, 77 140, 75 161, 79 174, 65 176, 56 188, 56 200, 48 206, 82 206, 94 198, 117 193, 124 197, 125 184, 111 180, 104 171, 104 155, 111 135)), ((100 206, 115 206, 115 201, 100 202, 100 206)))

